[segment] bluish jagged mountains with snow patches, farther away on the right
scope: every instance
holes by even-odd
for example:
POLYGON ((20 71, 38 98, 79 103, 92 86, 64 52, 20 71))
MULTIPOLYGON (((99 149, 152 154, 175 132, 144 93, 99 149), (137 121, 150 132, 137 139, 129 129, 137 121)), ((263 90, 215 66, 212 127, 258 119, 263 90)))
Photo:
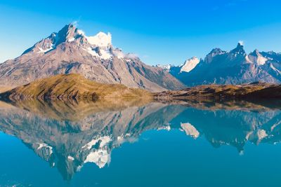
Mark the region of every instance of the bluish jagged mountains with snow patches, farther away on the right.
POLYGON ((185 64, 168 70, 185 85, 242 84, 256 81, 281 83, 281 53, 247 53, 238 43, 233 50, 214 48, 204 58, 192 58, 185 64))

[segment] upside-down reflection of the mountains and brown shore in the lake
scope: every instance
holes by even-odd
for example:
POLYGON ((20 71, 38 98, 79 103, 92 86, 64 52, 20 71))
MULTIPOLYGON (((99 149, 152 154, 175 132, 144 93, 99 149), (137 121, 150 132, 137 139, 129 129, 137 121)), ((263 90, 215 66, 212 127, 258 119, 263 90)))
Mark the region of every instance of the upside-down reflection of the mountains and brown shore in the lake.
POLYGON ((0 108, 0 131, 21 139, 65 180, 87 162, 105 167, 113 149, 148 130, 181 130, 194 139, 204 137, 215 148, 233 146, 240 154, 247 141, 281 140, 278 107, 250 102, 25 101, 1 102, 0 108))

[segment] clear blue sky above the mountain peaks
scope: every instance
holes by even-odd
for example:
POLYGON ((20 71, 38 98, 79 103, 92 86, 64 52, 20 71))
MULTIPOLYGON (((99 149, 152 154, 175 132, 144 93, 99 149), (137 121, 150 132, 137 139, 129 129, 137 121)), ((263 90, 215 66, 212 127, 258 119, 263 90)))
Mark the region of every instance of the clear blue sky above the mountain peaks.
POLYGON ((0 62, 78 21, 87 35, 110 32, 114 46, 147 64, 181 64, 212 48, 281 52, 281 1, 0 0, 0 62))

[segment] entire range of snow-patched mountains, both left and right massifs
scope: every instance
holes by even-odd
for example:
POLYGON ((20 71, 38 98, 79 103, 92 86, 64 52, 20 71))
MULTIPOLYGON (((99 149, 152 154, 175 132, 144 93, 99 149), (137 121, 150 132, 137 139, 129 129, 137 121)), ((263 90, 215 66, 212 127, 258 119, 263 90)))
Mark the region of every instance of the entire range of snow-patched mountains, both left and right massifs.
POLYGON ((208 84, 281 83, 281 53, 254 50, 247 54, 238 43, 233 50, 214 48, 204 59, 192 57, 179 66, 151 67, 133 53, 112 46, 110 33, 86 36, 69 24, 20 57, 0 64, 0 87, 14 88, 57 74, 81 74, 98 83, 151 92, 208 84))

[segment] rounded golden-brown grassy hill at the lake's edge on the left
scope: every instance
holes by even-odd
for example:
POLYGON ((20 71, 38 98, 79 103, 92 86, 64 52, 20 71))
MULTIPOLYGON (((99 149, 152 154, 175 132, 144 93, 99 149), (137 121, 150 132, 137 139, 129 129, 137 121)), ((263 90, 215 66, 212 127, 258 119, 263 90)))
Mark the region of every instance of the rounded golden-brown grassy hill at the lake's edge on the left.
POLYGON ((103 84, 90 81, 79 74, 56 75, 22 85, 0 95, 1 99, 112 99, 145 98, 146 90, 127 88, 121 84, 103 84))

